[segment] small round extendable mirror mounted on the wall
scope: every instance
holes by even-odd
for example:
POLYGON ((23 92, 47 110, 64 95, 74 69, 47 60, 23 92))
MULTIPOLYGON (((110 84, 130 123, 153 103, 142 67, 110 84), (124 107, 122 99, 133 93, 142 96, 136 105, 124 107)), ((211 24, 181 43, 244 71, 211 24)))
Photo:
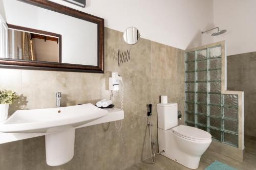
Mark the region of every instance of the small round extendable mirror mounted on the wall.
POLYGON ((127 44, 134 45, 140 39, 140 32, 135 27, 129 27, 124 31, 123 39, 127 44))

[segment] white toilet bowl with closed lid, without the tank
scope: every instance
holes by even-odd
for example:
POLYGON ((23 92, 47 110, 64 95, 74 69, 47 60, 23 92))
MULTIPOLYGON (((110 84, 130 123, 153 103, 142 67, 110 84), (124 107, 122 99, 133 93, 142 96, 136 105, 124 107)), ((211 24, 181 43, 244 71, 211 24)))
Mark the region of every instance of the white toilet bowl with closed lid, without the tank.
POLYGON ((169 130, 158 128, 159 151, 162 155, 197 169, 202 154, 211 143, 211 135, 201 129, 180 125, 169 130))

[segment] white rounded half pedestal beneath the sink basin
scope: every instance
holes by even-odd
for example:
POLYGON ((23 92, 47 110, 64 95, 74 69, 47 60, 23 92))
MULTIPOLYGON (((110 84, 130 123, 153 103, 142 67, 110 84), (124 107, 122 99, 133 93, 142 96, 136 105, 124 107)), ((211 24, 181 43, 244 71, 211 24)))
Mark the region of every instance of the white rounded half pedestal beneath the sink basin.
POLYGON ((75 129, 45 136, 46 163, 50 166, 58 166, 69 162, 74 156, 75 129))

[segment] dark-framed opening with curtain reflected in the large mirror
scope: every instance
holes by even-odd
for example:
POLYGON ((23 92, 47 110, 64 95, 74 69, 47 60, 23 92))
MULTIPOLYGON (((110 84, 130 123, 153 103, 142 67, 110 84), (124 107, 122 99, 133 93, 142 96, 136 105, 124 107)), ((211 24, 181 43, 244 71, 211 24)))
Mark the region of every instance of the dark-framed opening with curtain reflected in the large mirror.
POLYGON ((8 29, 9 58, 31 61, 61 62, 61 36, 8 29))

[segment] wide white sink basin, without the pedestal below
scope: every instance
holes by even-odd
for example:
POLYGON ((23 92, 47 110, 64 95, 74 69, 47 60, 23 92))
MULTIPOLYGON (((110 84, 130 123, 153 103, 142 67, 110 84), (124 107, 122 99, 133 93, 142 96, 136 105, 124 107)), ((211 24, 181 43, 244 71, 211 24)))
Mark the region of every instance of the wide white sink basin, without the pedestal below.
POLYGON ((58 132, 63 128, 76 128, 107 114, 107 110, 90 103, 60 108, 17 110, 5 122, 0 123, 0 132, 58 132))

